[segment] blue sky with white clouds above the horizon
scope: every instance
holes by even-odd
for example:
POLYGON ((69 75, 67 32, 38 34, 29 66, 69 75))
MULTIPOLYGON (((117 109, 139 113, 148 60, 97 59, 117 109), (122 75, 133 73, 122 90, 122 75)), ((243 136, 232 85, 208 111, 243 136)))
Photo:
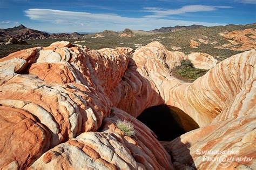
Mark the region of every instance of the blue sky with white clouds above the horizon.
POLYGON ((153 30, 256 22, 256 0, 0 0, 0 28, 48 32, 153 30))

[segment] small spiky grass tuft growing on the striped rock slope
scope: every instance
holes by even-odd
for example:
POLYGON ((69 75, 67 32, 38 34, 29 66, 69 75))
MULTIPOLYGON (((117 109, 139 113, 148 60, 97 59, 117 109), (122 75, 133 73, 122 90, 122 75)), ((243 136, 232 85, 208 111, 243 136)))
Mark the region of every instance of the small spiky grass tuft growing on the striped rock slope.
POLYGON ((130 121, 118 119, 116 125, 128 137, 135 134, 134 127, 130 121))

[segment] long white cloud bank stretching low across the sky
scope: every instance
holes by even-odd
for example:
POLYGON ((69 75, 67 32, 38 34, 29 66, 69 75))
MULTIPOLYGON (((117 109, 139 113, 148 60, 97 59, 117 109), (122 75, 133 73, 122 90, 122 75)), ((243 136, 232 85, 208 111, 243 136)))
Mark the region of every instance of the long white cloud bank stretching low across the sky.
MULTIPOLYGON (((36 21, 44 22, 44 31, 49 32, 71 32, 88 31, 99 32, 103 30, 152 30, 161 26, 192 25, 200 24, 206 26, 224 25, 220 23, 193 22, 171 19, 151 18, 151 16, 132 18, 123 17, 113 13, 89 13, 62 11, 52 9, 29 9, 25 11, 26 16, 36 21), (47 24, 48 23, 48 24, 47 24), (54 29, 53 29, 54 28, 54 29)), ((42 30, 42 27, 33 29, 42 30)))

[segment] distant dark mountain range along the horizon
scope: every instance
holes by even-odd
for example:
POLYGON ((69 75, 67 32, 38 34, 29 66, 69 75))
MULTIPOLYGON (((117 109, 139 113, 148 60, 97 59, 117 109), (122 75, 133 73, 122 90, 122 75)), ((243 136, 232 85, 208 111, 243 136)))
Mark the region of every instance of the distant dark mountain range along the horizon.
MULTIPOLYGON (((247 24, 254 25, 253 24, 247 24)), ((228 26, 228 25, 227 25, 228 26)), ((246 25, 245 25, 246 26, 246 25)), ((130 30, 125 29, 124 31, 111 31, 105 30, 99 33, 91 33, 92 38, 100 38, 100 37, 113 37, 113 36, 120 36, 120 37, 134 37, 136 35, 152 35, 157 33, 166 33, 166 32, 176 32, 176 31, 183 31, 183 30, 196 30, 200 28, 207 28, 207 26, 203 25, 190 25, 190 26, 169 26, 169 27, 162 27, 160 29, 154 29, 152 31, 137 31, 137 30, 130 30)), ((8 29, 0 29, 0 42, 8 42, 10 38, 22 40, 22 39, 80 39, 82 37, 86 37, 88 33, 48 33, 38 30, 33 30, 26 28, 24 25, 15 26, 14 28, 8 29)))

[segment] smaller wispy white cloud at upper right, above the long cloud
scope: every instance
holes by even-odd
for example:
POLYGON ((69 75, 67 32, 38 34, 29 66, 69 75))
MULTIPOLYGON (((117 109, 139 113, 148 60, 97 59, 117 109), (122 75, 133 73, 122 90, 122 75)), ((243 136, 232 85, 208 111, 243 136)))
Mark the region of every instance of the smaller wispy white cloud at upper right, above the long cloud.
MULTIPOLYGON (((204 12, 204 11, 216 11, 219 8, 232 8, 231 6, 210 6, 210 5, 186 5, 179 9, 160 9, 150 7, 144 8, 144 12, 153 13, 154 16, 170 16, 170 15, 180 15, 182 13, 188 12, 204 12)), ((152 16, 152 15, 151 15, 152 16)))

